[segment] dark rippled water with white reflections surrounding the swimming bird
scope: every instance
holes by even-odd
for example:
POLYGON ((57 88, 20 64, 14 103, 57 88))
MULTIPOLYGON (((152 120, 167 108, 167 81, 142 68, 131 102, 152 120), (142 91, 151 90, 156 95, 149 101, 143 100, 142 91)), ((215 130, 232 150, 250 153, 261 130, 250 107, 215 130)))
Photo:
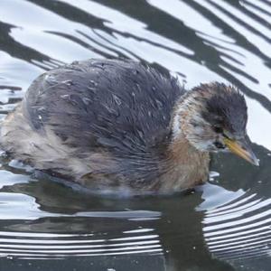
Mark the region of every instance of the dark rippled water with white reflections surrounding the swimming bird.
POLYGON ((0 0, 1 117, 44 70, 117 56, 236 84, 260 167, 216 155, 192 194, 107 199, 2 157, 0 270, 271 270, 271 2, 0 0))

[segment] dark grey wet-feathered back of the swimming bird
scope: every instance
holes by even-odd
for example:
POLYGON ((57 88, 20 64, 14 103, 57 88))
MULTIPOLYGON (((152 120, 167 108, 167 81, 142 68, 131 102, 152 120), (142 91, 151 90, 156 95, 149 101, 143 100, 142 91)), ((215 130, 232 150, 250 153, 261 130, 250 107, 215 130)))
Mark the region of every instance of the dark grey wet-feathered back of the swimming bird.
POLYGON ((104 159, 97 173, 110 168, 147 182, 157 174, 182 93, 176 79, 135 61, 79 61, 35 79, 18 110, 32 133, 53 133, 73 157, 104 159))

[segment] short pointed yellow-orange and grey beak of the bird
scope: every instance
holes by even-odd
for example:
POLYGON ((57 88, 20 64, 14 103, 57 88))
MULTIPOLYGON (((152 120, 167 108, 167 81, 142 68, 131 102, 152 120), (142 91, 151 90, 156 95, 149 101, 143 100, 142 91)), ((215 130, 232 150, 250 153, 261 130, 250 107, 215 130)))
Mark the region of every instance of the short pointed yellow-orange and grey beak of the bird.
POLYGON ((233 154, 237 154, 251 164, 259 165, 256 155, 252 152, 248 135, 238 140, 224 138, 224 143, 233 154))

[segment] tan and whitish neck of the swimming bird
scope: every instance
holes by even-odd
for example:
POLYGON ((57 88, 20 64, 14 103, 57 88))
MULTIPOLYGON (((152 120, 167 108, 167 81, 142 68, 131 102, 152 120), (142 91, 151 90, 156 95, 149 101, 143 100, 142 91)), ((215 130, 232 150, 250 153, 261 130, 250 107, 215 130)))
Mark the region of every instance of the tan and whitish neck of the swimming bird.
POLYGON ((186 138, 189 117, 195 113, 195 93, 184 94, 173 107, 172 136, 167 150, 165 186, 180 189, 205 182, 209 171, 209 153, 201 152, 186 138))

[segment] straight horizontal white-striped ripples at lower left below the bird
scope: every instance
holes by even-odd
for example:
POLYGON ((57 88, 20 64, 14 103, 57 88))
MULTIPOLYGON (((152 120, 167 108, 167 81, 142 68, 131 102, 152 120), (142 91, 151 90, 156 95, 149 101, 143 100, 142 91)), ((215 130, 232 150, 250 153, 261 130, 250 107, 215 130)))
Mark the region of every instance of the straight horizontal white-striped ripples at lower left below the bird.
MULTIPOLYGON (((157 235, 97 239, 93 234, 0 232, 0 257, 63 258, 116 256, 163 251, 157 235)), ((135 231, 135 233, 137 233, 135 231)))

